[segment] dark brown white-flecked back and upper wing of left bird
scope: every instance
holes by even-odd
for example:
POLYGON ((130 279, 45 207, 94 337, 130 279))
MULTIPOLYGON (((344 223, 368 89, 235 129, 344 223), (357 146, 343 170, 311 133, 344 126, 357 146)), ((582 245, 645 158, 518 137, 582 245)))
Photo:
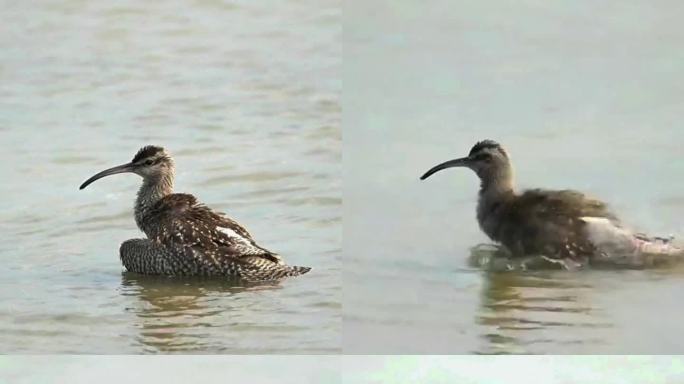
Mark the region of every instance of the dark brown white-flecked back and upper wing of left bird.
POLYGON ((278 254, 257 245, 244 227, 213 212, 192 195, 166 196, 153 207, 152 214, 160 224, 152 237, 162 244, 181 247, 188 254, 209 256, 217 262, 234 258, 282 264, 278 254))

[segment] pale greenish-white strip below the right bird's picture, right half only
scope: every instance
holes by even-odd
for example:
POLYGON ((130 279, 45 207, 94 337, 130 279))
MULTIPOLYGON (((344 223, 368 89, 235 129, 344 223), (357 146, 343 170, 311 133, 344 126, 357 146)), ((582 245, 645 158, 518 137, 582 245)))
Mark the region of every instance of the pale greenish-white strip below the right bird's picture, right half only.
POLYGON ((345 356, 354 384, 673 384, 680 356, 345 356))

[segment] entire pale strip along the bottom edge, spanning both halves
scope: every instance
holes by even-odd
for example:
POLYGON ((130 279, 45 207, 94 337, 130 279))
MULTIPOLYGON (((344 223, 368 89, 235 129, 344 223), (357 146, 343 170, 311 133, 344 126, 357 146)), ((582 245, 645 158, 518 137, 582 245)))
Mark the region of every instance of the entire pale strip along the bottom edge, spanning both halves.
POLYGON ((673 384, 681 356, 0 356, 0 382, 673 384), (40 369, 34 369, 39 366, 40 369))

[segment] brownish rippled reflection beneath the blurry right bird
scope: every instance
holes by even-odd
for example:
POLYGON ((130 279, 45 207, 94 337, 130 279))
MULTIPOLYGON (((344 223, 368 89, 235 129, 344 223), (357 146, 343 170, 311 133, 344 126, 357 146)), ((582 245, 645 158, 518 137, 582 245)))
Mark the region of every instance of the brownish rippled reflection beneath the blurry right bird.
POLYGON ((586 303, 584 274, 553 271, 486 273, 476 322, 482 327, 480 353, 539 353, 568 344, 601 343, 588 337, 610 323, 586 303))

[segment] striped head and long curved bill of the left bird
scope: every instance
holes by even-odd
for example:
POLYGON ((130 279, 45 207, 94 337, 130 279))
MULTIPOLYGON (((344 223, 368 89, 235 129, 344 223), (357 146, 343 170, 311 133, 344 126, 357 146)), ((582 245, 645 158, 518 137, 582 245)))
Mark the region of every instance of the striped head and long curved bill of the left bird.
POLYGON ((140 148, 130 163, 117 165, 93 175, 83 182, 79 189, 87 187, 95 180, 117 173, 135 173, 143 178, 161 177, 173 173, 173 159, 164 148, 148 145, 140 148))

